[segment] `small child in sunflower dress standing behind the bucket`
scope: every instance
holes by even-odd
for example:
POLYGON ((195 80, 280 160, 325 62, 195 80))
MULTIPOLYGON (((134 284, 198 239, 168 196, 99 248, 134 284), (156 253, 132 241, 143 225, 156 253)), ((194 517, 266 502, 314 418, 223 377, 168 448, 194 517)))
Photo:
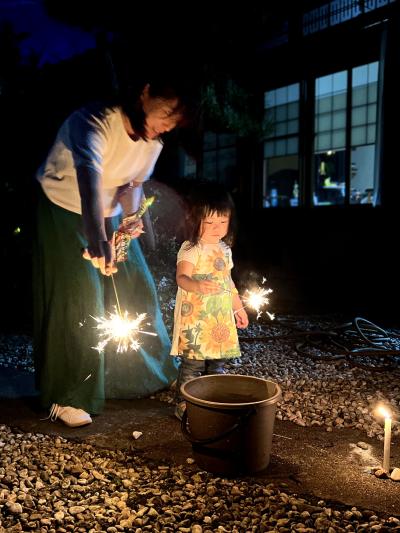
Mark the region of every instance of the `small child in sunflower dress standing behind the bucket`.
POLYGON ((181 358, 175 408, 179 419, 186 408, 180 387, 203 374, 223 374, 225 361, 240 357, 236 326, 249 323, 231 278, 232 198, 221 186, 208 183, 195 188, 188 204, 188 240, 177 257, 171 348, 171 355, 181 358))

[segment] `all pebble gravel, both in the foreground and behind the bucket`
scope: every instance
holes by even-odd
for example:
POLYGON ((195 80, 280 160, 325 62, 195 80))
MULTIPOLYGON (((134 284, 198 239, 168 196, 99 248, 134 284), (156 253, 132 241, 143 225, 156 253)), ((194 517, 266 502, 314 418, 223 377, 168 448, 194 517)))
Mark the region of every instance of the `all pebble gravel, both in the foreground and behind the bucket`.
MULTIPOLYGON (((160 277, 158 289, 171 329, 174 285, 160 277)), ((228 370, 279 383, 283 398, 277 418, 326 431, 357 428, 382 439, 374 406, 384 402, 397 419, 400 410, 397 331, 389 332, 390 358, 358 356, 354 361, 348 353, 343 356, 343 349, 326 345, 325 338, 321 343, 314 336, 318 343, 309 342, 298 331, 330 330, 337 318, 252 318, 243 332, 248 338, 242 342, 243 357, 228 370), (380 366, 387 368, 377 372, 380 366)), ((1 367, 33 372, 30 337, 0 336, 1 367)), ((169 391, 156 397, 172 401, 169 391)), ((399 435, 394 420, 392 436, 399 435)), ((282 484, 216 477, 197 471, 191 459, 178 466, 149 464, 128 452, 16 433, 7 426, 0 426, 0 447, 0 532, 400 531, 400 504, 397 517, 377 516, 367 509, 299 497, 282 484)))

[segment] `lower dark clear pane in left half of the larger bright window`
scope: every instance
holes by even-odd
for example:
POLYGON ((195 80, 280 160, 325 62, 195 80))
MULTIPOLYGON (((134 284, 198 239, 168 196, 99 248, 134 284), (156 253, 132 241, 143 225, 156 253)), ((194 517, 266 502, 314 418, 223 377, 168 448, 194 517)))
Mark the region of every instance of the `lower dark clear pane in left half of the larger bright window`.
POLYGON ((345 151, 314 154, 314 205, 343 205, 345 195, 345 151))

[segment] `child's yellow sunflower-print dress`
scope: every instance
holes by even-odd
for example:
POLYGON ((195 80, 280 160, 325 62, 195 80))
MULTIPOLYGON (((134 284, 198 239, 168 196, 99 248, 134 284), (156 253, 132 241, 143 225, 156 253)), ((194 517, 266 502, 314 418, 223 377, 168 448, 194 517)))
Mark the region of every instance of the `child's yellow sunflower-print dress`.
POLYGON ((232 310, 232 251, 222 241, 188 246, 188 241, 182 244, 177 263, 192 263, 192 278, 215 281, 221 292, 206 295, 178 287, 171 355, 197 360, 240 357, 232 310))

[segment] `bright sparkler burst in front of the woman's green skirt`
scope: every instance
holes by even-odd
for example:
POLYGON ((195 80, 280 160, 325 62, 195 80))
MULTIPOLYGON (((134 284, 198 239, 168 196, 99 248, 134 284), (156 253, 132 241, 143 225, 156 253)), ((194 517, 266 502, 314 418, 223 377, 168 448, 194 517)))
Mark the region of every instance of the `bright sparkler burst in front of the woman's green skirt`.
POLYGON ((93 346, 98 352, 102 352, 111 341, 116 343, 117 353, 138 350, 140 343, 136 337, 139 334, 157 336, 156 333, 141 329, 146 313, 138 314, 136 318, 130 318, 128 311, 122 314, 115 309, 115 313, 108 313, 108 315, 107 318, 92 317, 97 322, 96 328, 99 330, 99 342, 97 346, 93 346))

